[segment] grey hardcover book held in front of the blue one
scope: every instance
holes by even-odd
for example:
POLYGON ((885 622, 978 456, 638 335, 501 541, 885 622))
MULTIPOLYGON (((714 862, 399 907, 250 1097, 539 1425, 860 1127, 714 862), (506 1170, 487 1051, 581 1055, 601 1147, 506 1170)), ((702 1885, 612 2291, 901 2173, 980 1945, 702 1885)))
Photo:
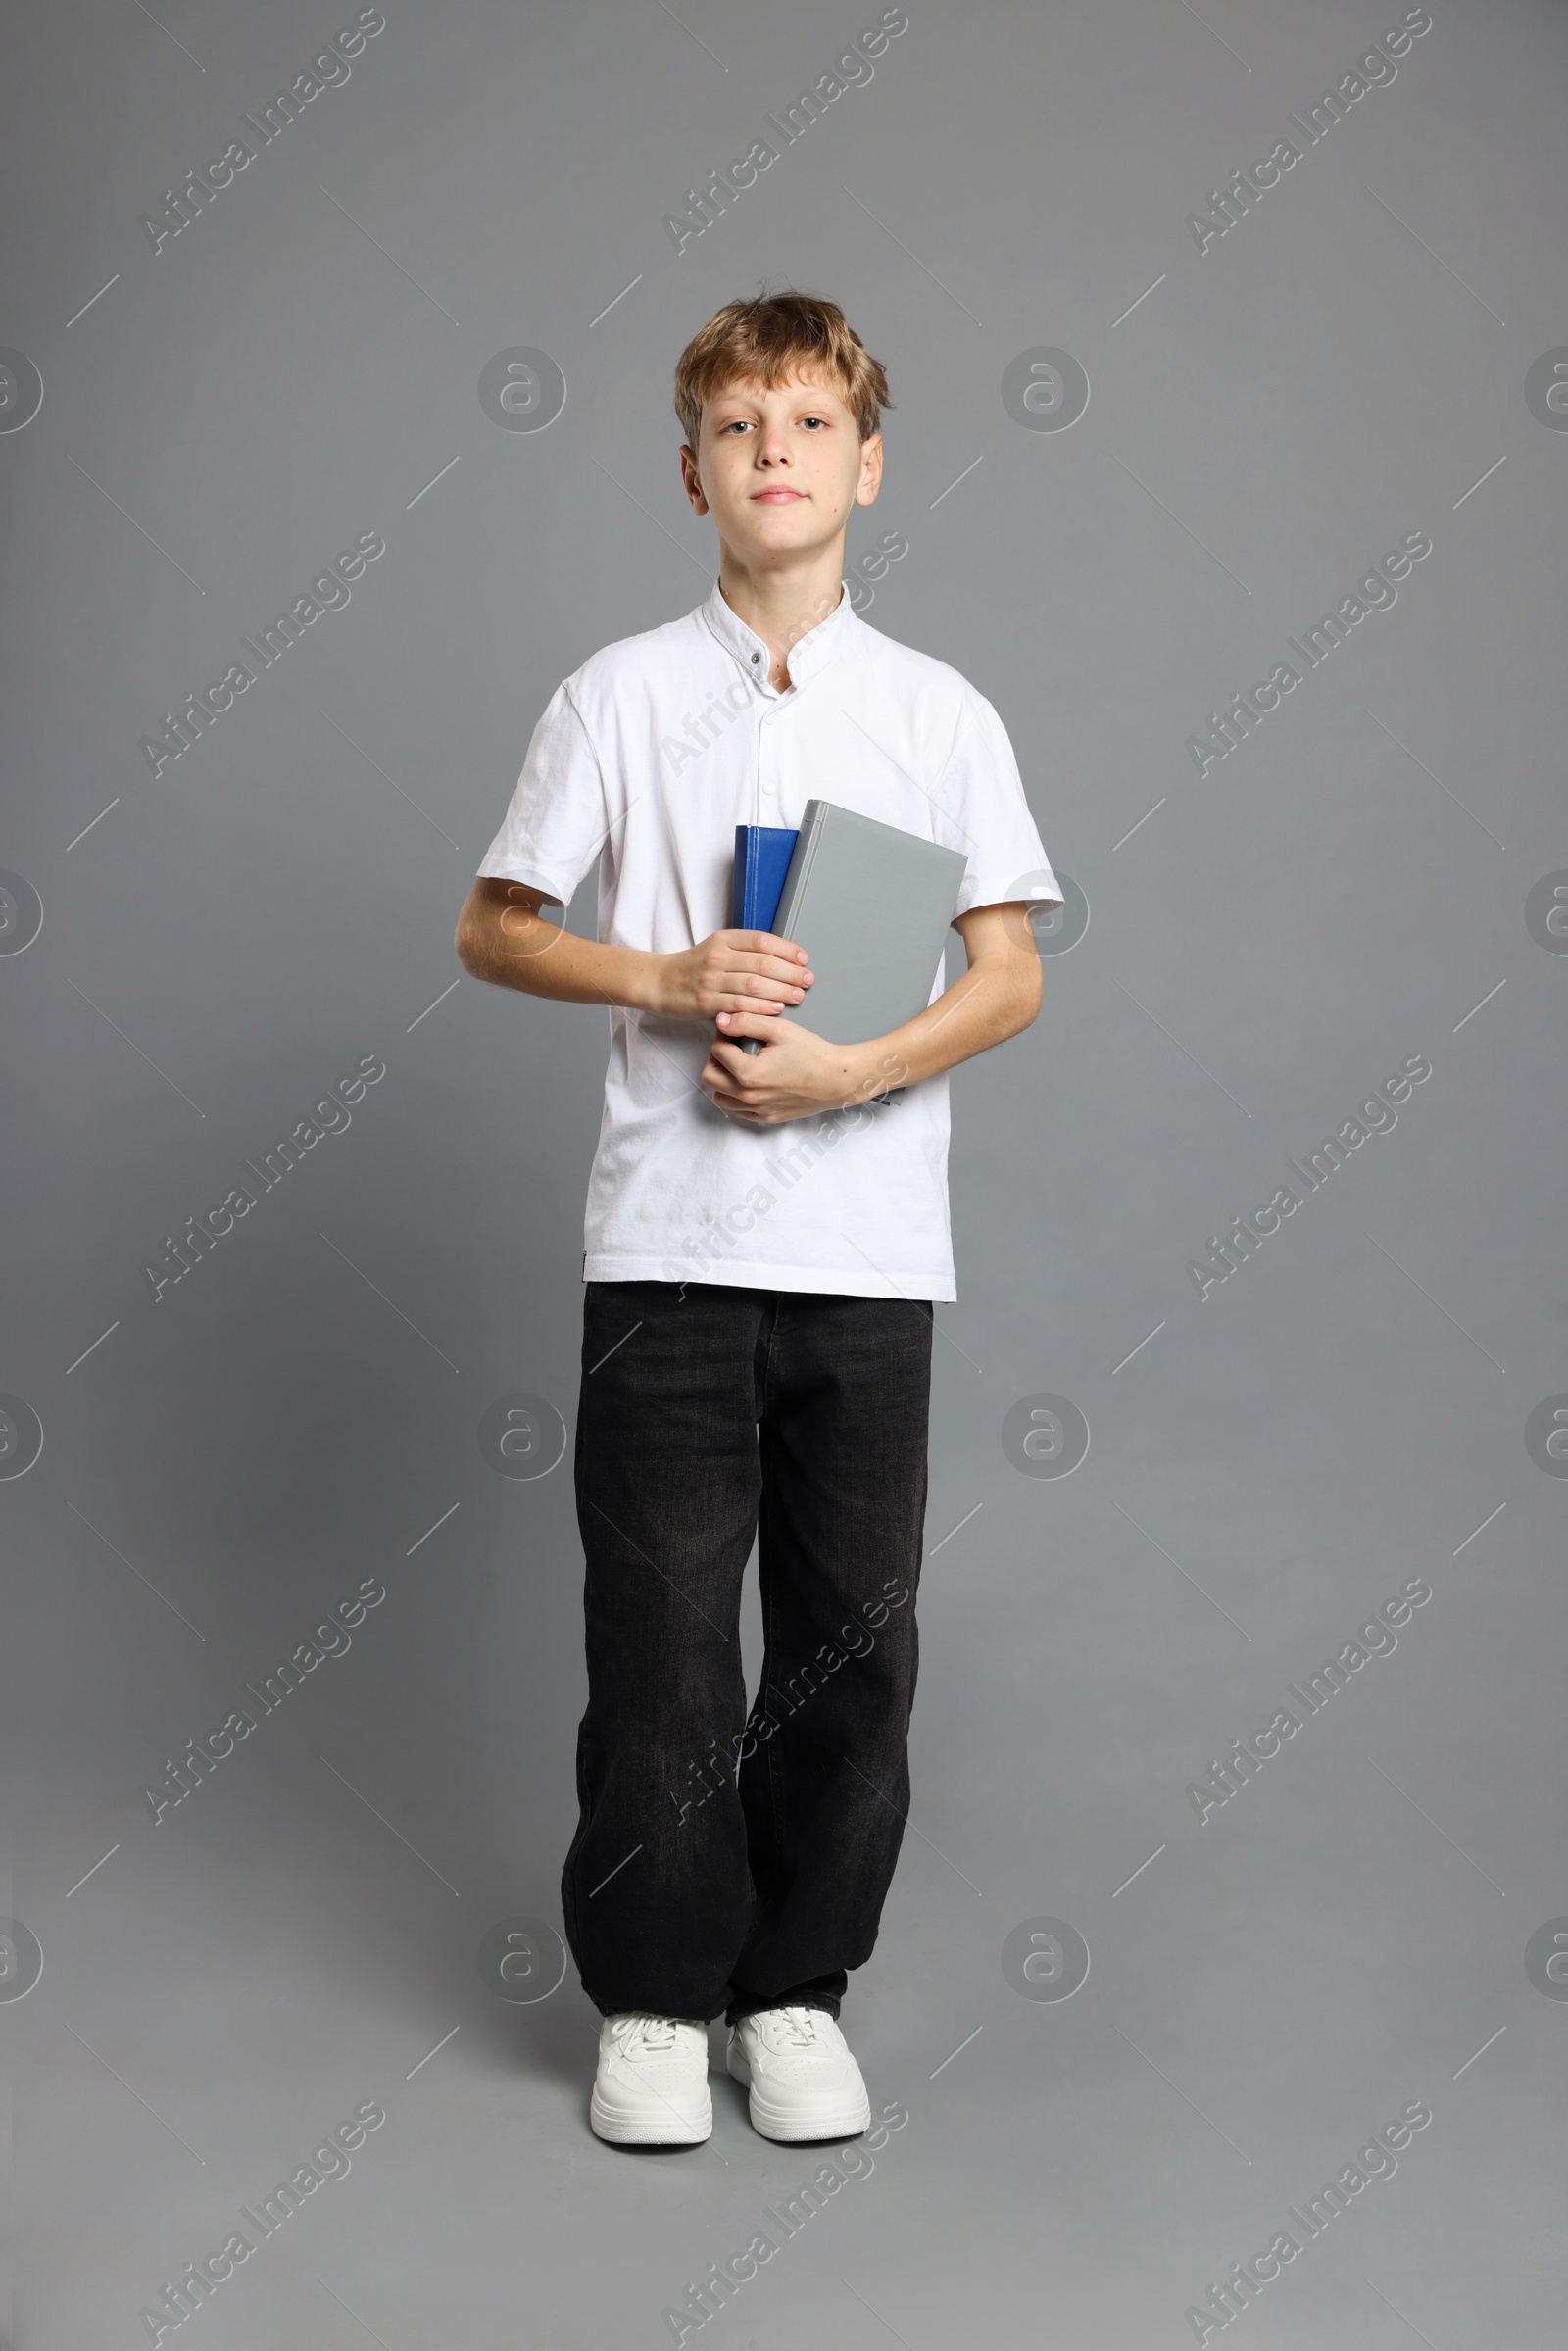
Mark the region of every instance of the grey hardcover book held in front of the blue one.
POLYGON ((771 931, 809 950, 813 980, 783 1018, 863 1044, 924 1013, 966 865, 961 849, 809 799, 771 931))

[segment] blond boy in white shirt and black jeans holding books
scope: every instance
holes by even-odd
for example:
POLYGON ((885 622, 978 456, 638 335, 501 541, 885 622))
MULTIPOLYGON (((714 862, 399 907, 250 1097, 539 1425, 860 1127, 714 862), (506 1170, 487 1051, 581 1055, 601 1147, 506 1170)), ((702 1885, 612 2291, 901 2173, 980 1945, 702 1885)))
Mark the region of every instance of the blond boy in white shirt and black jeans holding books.
POLYGON ((764 2137, 867 2128, 837 2015, 910 1808, 933 1302, 957 1295, 945 1072, 1034 1018, 1027 903, 1063 903, 992 705, 851 609, 884 404, 820 296, 726 303, 686 346, 679 468, 715 590, 555 689, 456 931, 475 978, 609 1006, 562 1909, 604 2020, 590 2121, 618 2144, 712 2132, 717 2015, 764 2137), (886 1037, 780 1020, 809 1011, 811 943, 729 929, 736 823, 799 825, 811 797, 969 858, 969 969, 886 1037), (585 940, 538 910, 595 860, 585 940))

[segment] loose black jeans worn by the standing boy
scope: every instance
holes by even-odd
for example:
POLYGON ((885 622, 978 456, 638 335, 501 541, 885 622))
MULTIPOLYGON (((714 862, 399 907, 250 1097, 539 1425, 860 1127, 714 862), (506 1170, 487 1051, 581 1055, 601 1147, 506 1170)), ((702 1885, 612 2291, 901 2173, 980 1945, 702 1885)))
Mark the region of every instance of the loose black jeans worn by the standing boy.
POLYGON ((585 1284, 588 1712, 562 1909, 602 2015, 837 2017, 872 1954, 910 1808, 931 1312, 585 1284))

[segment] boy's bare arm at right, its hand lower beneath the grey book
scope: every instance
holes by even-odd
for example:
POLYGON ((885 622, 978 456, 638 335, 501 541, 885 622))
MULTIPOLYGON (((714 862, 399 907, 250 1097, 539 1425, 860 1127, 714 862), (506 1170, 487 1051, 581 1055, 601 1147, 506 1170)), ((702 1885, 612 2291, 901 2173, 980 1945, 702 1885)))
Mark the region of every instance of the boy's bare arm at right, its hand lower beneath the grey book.
POLYGON ((867 1044, 827 1044, 792 1020, 722 1013, 703 1070, 719 1110, 759 1126, 863 1103, 889 1086, 917 1086, 954 1063, 1016 1037, 1039 1011, 1039 947, 1023 900, 976 905, 954 919, 969 971, 914 1020, 867 1044), (729 1039, 762 1037, 757 1056, 729 1039))

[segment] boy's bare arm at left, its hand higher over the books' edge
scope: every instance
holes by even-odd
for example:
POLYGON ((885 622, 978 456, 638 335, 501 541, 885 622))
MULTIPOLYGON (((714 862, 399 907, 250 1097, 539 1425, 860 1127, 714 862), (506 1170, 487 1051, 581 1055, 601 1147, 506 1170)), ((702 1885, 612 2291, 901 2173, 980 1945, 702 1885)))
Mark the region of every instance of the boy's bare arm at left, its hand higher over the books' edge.
POLYGON ((715 1020, 717 1013, 778 1013, 811 987, 806 950, 771 931, 715 931, 679 955, 646 955, 578 938, 545 922, 559 905, 524 882, 480 875, 458 915, 454 947, 463 971, 496 987, 569 1004, 625 1004, 665 1020, 715 1020))

